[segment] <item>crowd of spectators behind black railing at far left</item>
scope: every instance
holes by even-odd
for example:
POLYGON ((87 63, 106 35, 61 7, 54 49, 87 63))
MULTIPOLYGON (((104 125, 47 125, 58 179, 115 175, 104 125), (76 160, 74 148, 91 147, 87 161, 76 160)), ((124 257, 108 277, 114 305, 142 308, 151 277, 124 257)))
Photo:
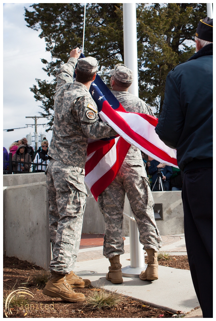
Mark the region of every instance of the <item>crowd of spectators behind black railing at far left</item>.
MULTIPOLYGON (((12 170, 14 174, 32 172, 45 172, 48 160, 48 140, 43 138, 41 146, 37 151, 25 137, 13 142, 9 147, 9 153, 12 153, 12 170), (39 165, 40 164, 40 165, 39 165)), ((9 153, 3 147, 3 173, 9 170, 9 153)))

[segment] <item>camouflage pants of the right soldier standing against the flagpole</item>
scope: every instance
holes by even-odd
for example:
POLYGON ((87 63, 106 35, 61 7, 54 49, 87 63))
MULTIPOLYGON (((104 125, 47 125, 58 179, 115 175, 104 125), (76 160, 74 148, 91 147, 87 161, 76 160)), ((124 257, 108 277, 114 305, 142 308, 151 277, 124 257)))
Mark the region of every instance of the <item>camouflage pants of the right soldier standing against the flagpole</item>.
POLYGON ((162 240, 152 207, 154 201, 143 160, 124 160, 117 177, 98 197, 98 206, 105 222, 103 255, 107 258, 125 253, 122 239, 125 192, 143 249, 153 248, 158 251, 161 247, 162 240))

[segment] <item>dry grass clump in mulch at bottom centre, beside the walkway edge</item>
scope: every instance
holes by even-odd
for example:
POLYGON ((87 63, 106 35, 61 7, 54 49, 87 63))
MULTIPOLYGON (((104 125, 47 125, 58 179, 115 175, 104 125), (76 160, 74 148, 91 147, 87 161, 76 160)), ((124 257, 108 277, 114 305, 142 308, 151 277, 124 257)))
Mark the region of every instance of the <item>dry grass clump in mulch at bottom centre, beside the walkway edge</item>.
POLYGON ((105 289, 97 289, 99 291, 93 291, 89 297, 86 298, 85 308, 98 309, 110 308, 118 303, 122 302, 121 294, 116 291, 106 291, 105 289))

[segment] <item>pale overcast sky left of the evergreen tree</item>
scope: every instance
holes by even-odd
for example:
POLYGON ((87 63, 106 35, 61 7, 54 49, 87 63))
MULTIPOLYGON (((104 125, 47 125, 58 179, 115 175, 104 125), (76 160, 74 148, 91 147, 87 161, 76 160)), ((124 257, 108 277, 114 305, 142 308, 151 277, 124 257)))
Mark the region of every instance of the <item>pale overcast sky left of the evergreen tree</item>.
MULTIPOLYGON (((25 116, 40 116, 43 109, 35 101, 30 87, 36 84, 35 78, 51 80, 42 70, 41 58, 48 61, 51 55, 46 52, 46 44, 40 39, 39 32, 26 26, 24 7, 31 4, 4 4, 4 123, 3 129, 24 127, 34 120, 25 116)), ((32 10, 32 9, 31 9, 32 10)), ((39 118, 45 124, 46 118, 39 118)), ((38 133, 46 133, 46 127, 38 127, 38 133)), ((3 132, 3 146, 7 148, 15 140, 34 133, 34 127, 3 132)), ((46 133, 50 142, 52 132, 46 133)), ((33 145, 34 143, 32 143, 33 145)), ((9 150, 8 150, 9 152, 9 150)))

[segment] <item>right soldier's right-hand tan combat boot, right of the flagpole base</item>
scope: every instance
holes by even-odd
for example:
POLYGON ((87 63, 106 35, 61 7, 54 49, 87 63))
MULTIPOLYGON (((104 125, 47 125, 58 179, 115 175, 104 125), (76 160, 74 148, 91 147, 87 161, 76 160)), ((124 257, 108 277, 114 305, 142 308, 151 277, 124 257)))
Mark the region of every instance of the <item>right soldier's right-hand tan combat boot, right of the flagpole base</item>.
POLYGON ((153 248, 145 249, 148 254, 147 268, 140 273, 140 280, 157 280, 158 279, 158 252, 153 248))

